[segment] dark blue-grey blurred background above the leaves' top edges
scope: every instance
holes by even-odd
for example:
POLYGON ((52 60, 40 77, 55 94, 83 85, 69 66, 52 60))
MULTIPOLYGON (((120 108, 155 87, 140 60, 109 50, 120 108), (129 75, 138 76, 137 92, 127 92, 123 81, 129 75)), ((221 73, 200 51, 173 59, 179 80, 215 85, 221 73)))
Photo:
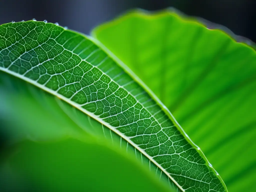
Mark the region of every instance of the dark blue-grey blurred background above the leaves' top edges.
POLYGON ((89 34, 93 27, 126 10, 167 7, 221 24, 256 42, 256 0, 0 0, 0 24, 46 19, 89 34))

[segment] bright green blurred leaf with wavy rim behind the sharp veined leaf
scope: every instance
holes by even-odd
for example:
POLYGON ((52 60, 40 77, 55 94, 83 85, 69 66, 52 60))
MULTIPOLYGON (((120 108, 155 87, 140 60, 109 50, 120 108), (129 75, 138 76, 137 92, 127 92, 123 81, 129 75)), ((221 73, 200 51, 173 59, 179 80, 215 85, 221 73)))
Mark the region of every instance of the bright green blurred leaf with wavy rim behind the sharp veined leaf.
POLYGON ((256 53, 168 10, 93 30, 172 112, 230 191, 254 184, 256 53))

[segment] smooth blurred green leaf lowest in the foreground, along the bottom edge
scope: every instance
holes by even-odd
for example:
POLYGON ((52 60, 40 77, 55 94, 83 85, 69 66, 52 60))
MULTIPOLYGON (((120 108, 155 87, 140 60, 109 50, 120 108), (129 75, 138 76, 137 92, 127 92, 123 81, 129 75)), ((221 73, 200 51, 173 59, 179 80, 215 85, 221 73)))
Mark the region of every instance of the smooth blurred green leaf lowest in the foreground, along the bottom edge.
POLYGON ((25 140, 0 161, 1 191, 170 191, 122 152, 90 138, 25 140))

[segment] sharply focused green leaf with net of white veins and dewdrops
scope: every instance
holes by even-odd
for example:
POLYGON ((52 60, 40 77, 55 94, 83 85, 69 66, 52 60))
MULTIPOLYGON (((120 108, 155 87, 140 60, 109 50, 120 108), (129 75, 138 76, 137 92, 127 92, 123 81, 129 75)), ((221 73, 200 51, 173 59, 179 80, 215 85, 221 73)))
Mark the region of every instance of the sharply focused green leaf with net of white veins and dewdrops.
POLYGON ((168 176, 180 190, 225 191, 220 176, 169 111, 97 44, 51 23, 4 24, 0 70, 89 115, 99 122, 95 129, 108 127, 121 142, 130 143, 135 154, 139 151, 149 165, 155 164, 161 179, 168 176))

